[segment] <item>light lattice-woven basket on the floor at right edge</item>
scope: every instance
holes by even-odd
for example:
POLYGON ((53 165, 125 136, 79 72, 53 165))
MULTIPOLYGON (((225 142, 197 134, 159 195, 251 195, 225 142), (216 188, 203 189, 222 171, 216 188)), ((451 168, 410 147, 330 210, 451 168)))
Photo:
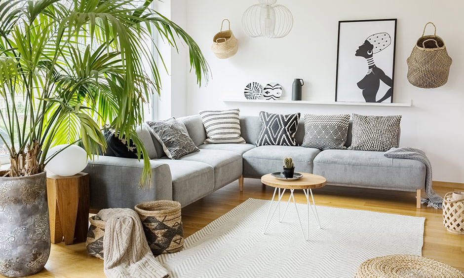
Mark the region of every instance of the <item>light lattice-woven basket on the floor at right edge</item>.
POLYGON ((464 198, 453 198, 453 192, 443 198, 443 225, 448 232, 464 235, 464 198))

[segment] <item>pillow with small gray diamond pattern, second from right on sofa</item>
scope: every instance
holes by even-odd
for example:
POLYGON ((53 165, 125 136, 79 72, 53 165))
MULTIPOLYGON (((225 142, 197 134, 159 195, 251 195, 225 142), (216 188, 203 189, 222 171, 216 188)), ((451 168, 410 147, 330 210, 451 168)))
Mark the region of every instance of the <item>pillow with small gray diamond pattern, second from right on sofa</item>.
POLYGON ((302 146, 321 150, 345 149, 349 115, 305 114, 305 138, 302 146))

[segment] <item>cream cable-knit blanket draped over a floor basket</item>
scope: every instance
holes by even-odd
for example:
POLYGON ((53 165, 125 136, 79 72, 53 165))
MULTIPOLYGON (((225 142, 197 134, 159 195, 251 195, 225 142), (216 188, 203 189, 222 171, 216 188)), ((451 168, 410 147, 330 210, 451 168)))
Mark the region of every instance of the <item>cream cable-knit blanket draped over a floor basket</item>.
POLYGON ((104 272, 108 278, 168 278, 153 256, 137 212, 108 208, 97 217, 106 221, 103 239, 104 272))

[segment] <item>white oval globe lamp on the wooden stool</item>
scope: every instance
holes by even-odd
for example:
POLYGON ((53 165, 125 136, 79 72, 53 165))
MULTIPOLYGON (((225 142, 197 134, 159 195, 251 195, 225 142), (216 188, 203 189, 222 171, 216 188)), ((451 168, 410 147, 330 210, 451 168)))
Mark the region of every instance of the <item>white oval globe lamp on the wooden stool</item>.
POLYGON ((60 176, 72 176, 87 166, 87 153, 76 145, 57 145, 48 150, 47 159, 55 155, 45 167, 47 172, 60 176), (61 152, 59 152, 62 150, 61 152), (59 152, 58 154, 56 154, 59 152), (56 154, 56 155, 55 155, 56 154))

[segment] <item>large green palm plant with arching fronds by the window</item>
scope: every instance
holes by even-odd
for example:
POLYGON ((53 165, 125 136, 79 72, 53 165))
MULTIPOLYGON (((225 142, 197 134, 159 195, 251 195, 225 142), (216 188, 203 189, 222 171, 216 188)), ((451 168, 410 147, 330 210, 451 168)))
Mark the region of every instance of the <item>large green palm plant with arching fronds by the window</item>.
POLYGON ((105 126, 132 139, 139 159, 148 157, 135 129, 166 69, 150 51, 153 34, 176 49, 176 40, 187 45, 200 86, 209 76, 193 38, 150 8, 152 1, 0 0, 0 126, 7 135, 0 140, 11 161, 1 175, 43 172, 57 144, 81 142, 92 157, 106 149, 105 126))

